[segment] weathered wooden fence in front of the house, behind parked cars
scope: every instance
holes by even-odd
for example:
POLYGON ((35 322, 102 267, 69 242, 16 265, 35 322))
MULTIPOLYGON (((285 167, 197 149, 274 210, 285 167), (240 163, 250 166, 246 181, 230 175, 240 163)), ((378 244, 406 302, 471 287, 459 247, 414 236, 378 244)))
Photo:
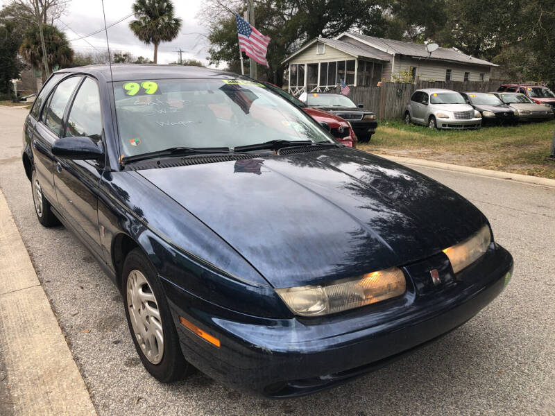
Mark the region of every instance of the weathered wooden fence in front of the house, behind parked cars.
MULTIPOLYGON (((362 104, 364 108, 375 112, 378 119, 400 119, 404 109, 416 89, 445 88, 456 92, 492 92, 497 91, 502 80, 489 80, 481 83, 476 81, 417 81, 414 84, 382 83, 380 87, 350 87, 348 97, 355 104, 362 104)), ((341 89, 337 87, 337 93, 341 89)))

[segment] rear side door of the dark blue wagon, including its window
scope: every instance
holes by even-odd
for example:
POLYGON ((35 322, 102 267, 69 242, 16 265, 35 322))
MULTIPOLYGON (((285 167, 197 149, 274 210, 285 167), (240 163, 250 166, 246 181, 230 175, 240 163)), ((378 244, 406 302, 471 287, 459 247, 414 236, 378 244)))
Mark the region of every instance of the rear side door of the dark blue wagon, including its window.
POLYGON ((67 105, 67 101, 79 80, 80 77, 71 77, 62 80, 58 85, 51 85, 46 90, 46 92, 52 91, 46 97, 46 103, 44 103, 42 111, 40 111, 41 102, 38 103, 36 111, 36 104, 33 105, 31 115, 34 113, 38 117, 38 121, 36 123, 31 122, 28 130, 26 130, 26 135, 30 135, 33 163, 41 191, 46 199, 53 204, 56 202, 56 191, 54 190, 52 144, 60 137, 65 105, 67 105))

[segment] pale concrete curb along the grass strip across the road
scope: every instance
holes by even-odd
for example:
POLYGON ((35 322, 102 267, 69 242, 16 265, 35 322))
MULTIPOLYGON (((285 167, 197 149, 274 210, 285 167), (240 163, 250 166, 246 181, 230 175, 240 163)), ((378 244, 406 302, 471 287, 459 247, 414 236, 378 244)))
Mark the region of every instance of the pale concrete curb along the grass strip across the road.
POLYGON ((495 177, 499 180, 510 180, 512 182, 520 182, 529 185, 539 185, 542 187, 555 188, 555 179, 548 179, 547 177, 520 175, 519 173, 510 173, 503 171, 491 171, 490 169, 482 168, 471 168, 470 166, 454 165, 442 162, 434 162, 432 160, 425 159, 414 159, 412 157, 400 157, 391 155, 381 155, 375 153, 376 156, 384 157, 384 159, 389 159, 391 162, 397 162, 400 164, 409 164, 415 166, 422 166, 426 168, 442 169, 444 171, 454 171, 461 173, 468 173, 470 175, 495 177))

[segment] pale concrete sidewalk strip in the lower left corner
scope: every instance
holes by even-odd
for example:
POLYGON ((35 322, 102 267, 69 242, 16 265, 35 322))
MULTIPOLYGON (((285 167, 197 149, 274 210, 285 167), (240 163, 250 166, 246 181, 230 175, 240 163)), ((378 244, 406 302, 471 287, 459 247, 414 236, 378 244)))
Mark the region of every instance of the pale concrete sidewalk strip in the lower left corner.
POLYGON ((0 414, 96 415, 1 191, 0 414))

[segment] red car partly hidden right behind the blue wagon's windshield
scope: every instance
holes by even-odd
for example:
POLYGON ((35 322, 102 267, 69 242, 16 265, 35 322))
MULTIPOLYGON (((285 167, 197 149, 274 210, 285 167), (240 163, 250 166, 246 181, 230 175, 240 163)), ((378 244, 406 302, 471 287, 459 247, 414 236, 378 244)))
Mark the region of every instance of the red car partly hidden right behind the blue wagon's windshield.
MULTIPOLYGON (((257 83, 261 82, 257 81, 257 83)), ((335 137, 335 139, 339 141, 339 143, 348 147, 357 147, 357 135, 355 135, 355 132, 352 131, 352 127, 348 121, 345 121, 341 119, 340 116, 336 116, 335 114, 332 114, 330 112, 307 107, 305 103, 298 100, 288 92, 285 92, 277 85, 264 82, 262 82, 261 84, 264 84, 272 91, 280 94, 280 96, 282 96, 283 98, 291 101, 291 103, 295 104, 297 107, 300 107, 305 113, 311 116, 314 120, 318 121, 318 123, 322 124, 325 128, 329 128, 330 132, 335 137)))

